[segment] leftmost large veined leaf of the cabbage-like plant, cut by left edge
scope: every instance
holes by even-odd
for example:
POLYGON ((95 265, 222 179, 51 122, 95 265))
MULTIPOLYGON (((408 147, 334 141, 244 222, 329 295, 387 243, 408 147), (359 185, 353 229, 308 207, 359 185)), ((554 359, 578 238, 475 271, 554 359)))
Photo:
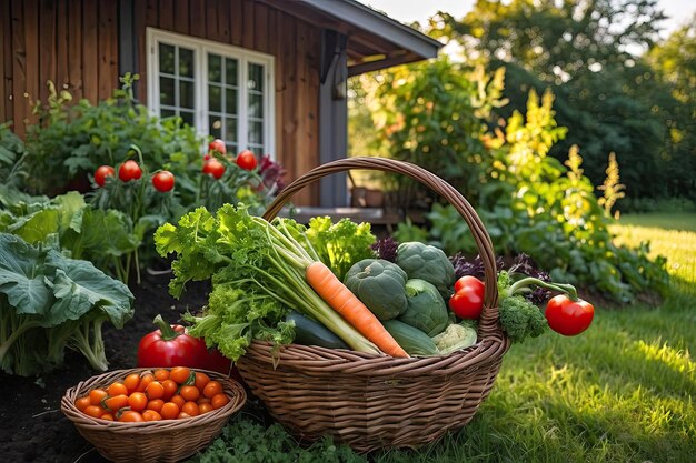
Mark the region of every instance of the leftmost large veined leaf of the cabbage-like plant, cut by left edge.
POLYGON ((43 315, 52 301, 42 255, 21 238, 0 233, 0 292, 17 313, 43 315))

